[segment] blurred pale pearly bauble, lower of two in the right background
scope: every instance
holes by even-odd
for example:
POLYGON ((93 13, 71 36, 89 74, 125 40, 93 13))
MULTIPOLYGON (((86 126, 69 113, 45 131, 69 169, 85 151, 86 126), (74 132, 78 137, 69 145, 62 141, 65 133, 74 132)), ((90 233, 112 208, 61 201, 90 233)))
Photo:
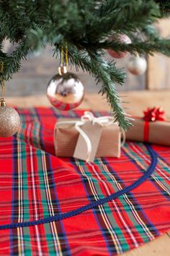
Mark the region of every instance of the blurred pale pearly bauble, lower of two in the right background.
POLYGON ((135 75, 144 74, 147 69, 146 59, 140 56, 132 56, 128 62, 128 71, 135 75))

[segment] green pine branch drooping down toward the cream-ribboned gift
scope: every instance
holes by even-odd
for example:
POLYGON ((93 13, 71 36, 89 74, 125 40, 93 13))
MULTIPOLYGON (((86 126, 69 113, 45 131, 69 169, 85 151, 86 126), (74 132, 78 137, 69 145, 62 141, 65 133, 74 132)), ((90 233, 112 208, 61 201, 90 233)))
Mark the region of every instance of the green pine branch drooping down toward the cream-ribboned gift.
POLYGON ((130 118, 122 109, 122 101, 116 92, 115 85, 123 85, 125 80, 125 72, 122 69, 117 69, 114 63, 103 61, 101 54, 91 52, 81 52, 73 47, 68 49, 69 59, 77 69, 81 69, 93 74, 97 82, 102 82, 102 88, 99 93, 106 95, 107 102, 112 108, 112 114, 115 116, 115 121, 118 121, 122 129, 128 129, 130 126, 130 118), (91 72, 91 70, 93 70, 91 72))

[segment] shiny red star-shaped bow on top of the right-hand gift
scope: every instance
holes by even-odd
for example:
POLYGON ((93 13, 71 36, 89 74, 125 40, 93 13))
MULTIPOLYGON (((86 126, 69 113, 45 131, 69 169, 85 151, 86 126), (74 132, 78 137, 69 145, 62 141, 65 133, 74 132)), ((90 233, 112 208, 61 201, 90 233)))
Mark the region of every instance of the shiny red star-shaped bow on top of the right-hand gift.
POLYGON ((162 108, 147 108, 147 110, 143 111, 143 113, 143 119, 145 121, 165 121, 165 111, 162 108))

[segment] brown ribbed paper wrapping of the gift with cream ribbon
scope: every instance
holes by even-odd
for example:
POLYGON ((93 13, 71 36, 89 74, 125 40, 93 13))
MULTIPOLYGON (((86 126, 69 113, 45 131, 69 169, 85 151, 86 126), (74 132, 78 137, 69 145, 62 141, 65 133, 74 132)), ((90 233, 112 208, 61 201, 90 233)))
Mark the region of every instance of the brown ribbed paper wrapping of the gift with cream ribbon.
MULTIPOLYGON (((59 121, 71 121, 73 119, 58 119, 59 121)), ((62 124, 55 128, 54 145, 55 155, 61 157, 72 157, 76 148, 79 132, 74 124, 62 124)), ((97 149, 97 157, 120 157, 120 127, 111 124, 102 127, 102 135, 97 149)))

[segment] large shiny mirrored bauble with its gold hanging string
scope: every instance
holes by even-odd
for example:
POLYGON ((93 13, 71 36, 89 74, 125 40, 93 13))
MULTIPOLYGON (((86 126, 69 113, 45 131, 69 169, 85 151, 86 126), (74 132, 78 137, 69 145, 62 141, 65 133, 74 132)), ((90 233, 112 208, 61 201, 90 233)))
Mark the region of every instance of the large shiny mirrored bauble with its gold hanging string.
POLYGON ((70 110, 81 104, 84 98, 84 85, 71 72, 67 72, 68 50, 66 48, 66 65, 63 61, 63 50, 61 51, 61 66, 58 74, 48 83, 47 96, 50 103, 60 110, 70 110))

